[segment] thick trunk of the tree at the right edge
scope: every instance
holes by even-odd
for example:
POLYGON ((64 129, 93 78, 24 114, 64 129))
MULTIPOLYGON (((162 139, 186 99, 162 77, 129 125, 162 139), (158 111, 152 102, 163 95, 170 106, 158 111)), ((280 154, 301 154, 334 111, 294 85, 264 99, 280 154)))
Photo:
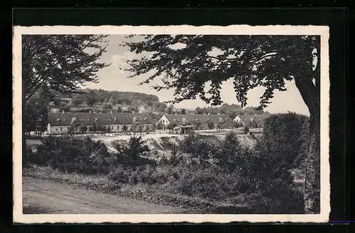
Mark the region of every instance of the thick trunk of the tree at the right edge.
POLYGON ((320 213, 320 89, 311 78, 295 79, 297 89, 310 110, 310 136, 306 158, 305 213, 320 213))

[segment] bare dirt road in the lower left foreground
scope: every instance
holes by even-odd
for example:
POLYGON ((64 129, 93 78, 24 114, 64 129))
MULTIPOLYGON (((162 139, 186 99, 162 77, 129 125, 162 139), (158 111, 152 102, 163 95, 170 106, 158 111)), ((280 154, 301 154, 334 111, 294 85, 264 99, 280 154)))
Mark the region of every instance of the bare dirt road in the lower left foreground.
POLYGON ((182 209, 23 177, 24 214, 178 214, 182 209))

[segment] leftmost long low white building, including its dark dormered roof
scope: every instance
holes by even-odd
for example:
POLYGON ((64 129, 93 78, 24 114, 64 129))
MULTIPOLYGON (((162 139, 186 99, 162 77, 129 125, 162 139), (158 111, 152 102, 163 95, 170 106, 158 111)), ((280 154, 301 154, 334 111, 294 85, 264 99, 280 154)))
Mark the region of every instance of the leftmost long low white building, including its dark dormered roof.
POLYGON ((151 132, 153 120, 144 113, 49 113, 49 135, 87 132, 151 132), (109 129, 109 130, 108 130, 109 129))

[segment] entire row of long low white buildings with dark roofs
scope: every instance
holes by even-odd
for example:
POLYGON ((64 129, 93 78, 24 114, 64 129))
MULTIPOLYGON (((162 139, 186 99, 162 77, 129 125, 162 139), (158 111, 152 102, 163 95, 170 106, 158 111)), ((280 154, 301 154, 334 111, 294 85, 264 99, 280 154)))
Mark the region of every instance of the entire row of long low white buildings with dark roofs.
POLYGON ((92 132, 99 131, 96 128, 109 132, 152 132, 158 126, 167 130, 173 125, 173 132, 187 134, 192 130, 232 128, 236 122, 241 126, 263 127, 265 118, 266 115, 238 115, 231 120, 228 115, 220 114, 165 114, 156 121, 147 113, 49 113, 47 133, 79 133, 82 125, 92 132))

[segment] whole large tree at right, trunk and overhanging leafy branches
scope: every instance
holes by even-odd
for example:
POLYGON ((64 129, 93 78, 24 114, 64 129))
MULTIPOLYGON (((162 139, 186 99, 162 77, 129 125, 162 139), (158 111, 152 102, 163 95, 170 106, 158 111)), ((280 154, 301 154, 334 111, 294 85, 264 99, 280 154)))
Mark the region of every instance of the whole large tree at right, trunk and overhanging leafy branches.
MULTIPOLYGON (((132 37, 130 35, 128 38, 132 37)), ((224 81, 234 84, 236 101, 246 106, 250 89, 263 86, 258 109, 271 103, 275 90, 295 86, 310 111, 305 211, 320 212, 320 37, 310 35, 142 35, 124 42, 140 57, 127 62, 133 74, 160 77, 153 87, 175 89, 173 103, 200 97, 222 103, 224 81), (209 84, 209 85, 207 85, 209 84), (206 90, 207 89, 207 90, 206 90)))

